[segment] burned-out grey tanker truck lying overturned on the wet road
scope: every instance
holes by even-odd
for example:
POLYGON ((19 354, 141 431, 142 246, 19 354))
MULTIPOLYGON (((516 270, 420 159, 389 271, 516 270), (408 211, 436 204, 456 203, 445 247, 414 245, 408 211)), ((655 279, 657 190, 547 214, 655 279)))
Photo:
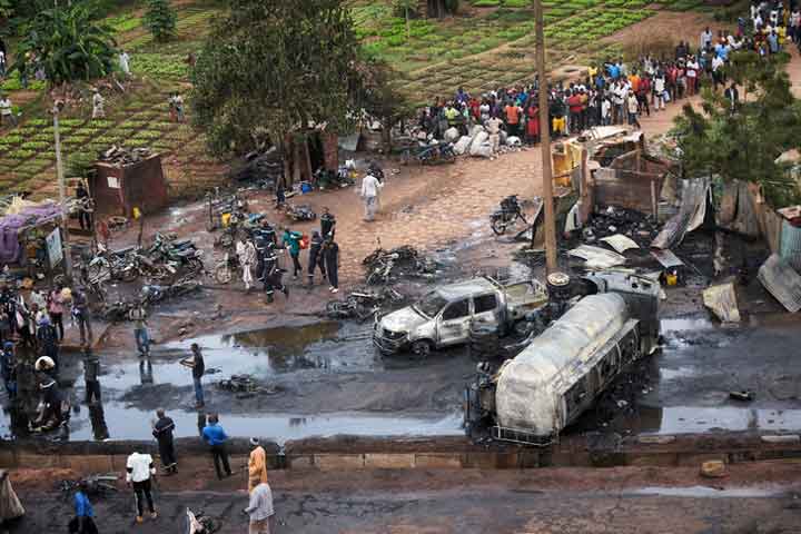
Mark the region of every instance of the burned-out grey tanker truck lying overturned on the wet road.
POLYGON ((547 279, 547 325, 465 392, 471 437, 548 445, 637 358, 657 347, 660 285, 623 273, 547 279))

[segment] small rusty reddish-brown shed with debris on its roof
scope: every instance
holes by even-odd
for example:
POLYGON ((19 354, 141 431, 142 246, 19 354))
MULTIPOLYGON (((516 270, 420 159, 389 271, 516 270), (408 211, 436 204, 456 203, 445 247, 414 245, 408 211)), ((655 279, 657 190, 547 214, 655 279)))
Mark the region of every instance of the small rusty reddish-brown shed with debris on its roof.
POLYGON ((131 164, 95 164, 89 189, 99 215, 131 217, 134 208, 152 212, 167 205, 167 182, 161 156, 156 154, 131 164))

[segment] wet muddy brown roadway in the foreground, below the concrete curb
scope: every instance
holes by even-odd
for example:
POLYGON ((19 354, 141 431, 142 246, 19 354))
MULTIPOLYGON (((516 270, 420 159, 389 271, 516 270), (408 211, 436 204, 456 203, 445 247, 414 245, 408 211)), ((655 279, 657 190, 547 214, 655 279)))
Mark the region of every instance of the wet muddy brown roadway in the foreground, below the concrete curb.
MULTIPOLYGON (((788 463, 733 465, 712 483, 695 467, 274 472, 270 485, 278 533, 789 534, 801 532, 799 474, 788 463)), ((96 500, 100 532, 182 532, 187 507, 214 517, 222 534, 245 532, 244 475, 187 476, 159 481, 160 516, 141 526, 129 490, 96 500)), ((70 504, 41 477, 24 478, 16 487, 29 514, 12 532, 61 531, 70 504)))

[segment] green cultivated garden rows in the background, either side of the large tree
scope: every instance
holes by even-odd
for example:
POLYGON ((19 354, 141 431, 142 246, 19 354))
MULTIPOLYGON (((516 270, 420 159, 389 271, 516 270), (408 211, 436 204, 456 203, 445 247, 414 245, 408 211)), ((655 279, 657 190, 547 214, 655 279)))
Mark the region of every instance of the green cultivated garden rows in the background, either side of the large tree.
MULTIPOLYGON (((581 65, 587 58, 614 57, 620 44, 603 38, 654 14, 660 9, 686 10, 701 0, 545 0, 547 60, 552 68, 581 65)), ((463 1, 462 13, 444 21, 404 18, 393 13, 385 0, 356 0, 352 6, 356 31, 366 49, 398 69, 404 88, 421 103, 452 95, 457 87, 486 92, 498 86, 530 81, 534 77, 534 11, 527 0, 463 1)), ((131 56, 137 80, 125 96, 109 99, 107 118, 91 120, 88 105, 69 109, 61 120, 65 161, 111 145, 151 147, 168 158, 170 181, 190 174, 209 174, 214 160, 204 139, 187 125, 169 121, 168 97, 174 90, 188 93, 188 58, 202 46, 219 4, 202 0, 177 8, 177 36, 156 42, 142 26, 142 10, 106 19, 118 44, 131 56), (171 168, 169 167, 171 166, 171 168), (205 170, 209 167, 209 170, 205 170)), ((36 197, 53 196, 56 155, 52 122, 46 112, 44 83, 30 80, 22 87, 11 76, 2 89, 22 107, 19 127, 0 136, 0 190, 29 190, 36 197)), ((180 185, 176 186, 180 188, 180 185)))

